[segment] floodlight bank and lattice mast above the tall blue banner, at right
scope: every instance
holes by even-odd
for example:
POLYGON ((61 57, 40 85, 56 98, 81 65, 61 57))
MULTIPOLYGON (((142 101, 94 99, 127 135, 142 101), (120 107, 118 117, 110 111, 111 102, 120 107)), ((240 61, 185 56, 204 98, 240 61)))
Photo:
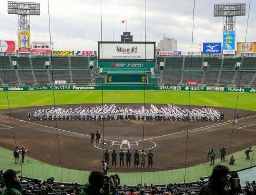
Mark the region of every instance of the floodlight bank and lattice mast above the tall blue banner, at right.
POLYGON ((214 4, 214 16, 223 17, 223 31, 236 31, 236 16, 246 14, 246 3, 214 4))

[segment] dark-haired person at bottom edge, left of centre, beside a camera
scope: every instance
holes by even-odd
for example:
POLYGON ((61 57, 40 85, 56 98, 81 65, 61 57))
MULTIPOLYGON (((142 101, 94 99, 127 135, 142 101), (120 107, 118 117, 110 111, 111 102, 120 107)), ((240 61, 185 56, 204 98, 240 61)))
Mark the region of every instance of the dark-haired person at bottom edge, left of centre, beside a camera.
POLYGON ((100 189, 103 186, 104 182, 104 173, 99 171, 90 172, 88 179, 89 182, 86 182, 82 187, 81 195, 100 195, 100 189))

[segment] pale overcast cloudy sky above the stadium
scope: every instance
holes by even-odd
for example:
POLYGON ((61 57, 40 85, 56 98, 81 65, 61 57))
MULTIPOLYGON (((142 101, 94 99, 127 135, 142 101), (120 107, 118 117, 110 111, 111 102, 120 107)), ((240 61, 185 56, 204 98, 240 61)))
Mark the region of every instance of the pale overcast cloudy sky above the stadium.
MULTIPOLYGON (((24 0, 19 0, 24 1, 24 0)), ((29 0, 26 0, 30 2, 29 0)), ((25 2, 26 2, 25 1, 25 2)), ((40 16, 31 16, 31 40, 49 41, 48 3, 40 2, 40 16)), ((200 43, 222 42, 223 19, 213 16, 214 3, 246 2, 246 16, 237 16, 237 42, 245 41, 249 0, 196 0, 193 51, 200 43)), ((148 0, 146 41, 163 35, 177 40, 178 51, 191 51, 193 0, 148 0)), ((97 50, 101 38, 100 0, 49 0, 51 37, 55 50, 97 50)), ((7 14, 7 0, 0 0, 1 40, 17 40, 17 16, 7 14)), ((102 0, 102 40, 119 41, 126 24, 134 41, 144 40, 144 0, 102 0), (113 38, 114 28, 114 38, 113 38)), ((256 1, 251 0, 247 41, 256 41, 256 1)))

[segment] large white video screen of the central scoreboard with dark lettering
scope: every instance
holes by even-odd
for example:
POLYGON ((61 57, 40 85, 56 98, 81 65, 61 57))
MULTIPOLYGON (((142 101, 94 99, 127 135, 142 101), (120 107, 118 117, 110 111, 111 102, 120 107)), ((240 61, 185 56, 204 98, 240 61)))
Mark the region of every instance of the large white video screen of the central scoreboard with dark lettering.
POLYGON ((98 56, 100 59, 121 60, 154 60, 154 43, 100 43, 98 56), (146 47, 146 56, 145 56, 146 47))

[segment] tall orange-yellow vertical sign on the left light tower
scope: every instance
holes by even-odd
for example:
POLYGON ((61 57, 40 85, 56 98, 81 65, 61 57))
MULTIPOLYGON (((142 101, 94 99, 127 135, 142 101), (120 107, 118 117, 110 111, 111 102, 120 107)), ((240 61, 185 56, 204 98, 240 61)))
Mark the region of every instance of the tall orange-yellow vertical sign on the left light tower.
POLYGON ((30 30, 18 31, 18 52, 30 53, 30 30))

